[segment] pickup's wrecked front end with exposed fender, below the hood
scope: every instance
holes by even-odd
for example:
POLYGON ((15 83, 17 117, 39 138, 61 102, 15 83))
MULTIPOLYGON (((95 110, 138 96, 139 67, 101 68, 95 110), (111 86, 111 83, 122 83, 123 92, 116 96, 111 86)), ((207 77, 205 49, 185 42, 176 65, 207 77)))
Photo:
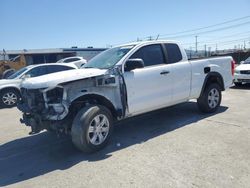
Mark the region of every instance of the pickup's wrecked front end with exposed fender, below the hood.
POLYGON ((18 109, 20 120, 31 127, 30 134, 41 130, 69 133, 76 113, 91 104, 108 105, 113 115, 121 119, 126 114, 126 87, 117 71, 105 75, 58 83, 41 89, 21 88, 18 109))

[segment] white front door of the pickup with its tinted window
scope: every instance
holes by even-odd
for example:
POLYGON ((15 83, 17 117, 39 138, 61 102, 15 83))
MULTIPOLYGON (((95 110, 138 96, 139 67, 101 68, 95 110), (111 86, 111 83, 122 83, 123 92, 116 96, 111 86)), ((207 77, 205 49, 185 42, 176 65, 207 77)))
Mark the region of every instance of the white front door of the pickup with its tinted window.
POLYGON ((161 44, 152 44, 141 47, 130 57, 144 61, 144 68, 124 73, 130 115, 158 109, 171 103, 172 65, 166 64, 163 52, 161 44))

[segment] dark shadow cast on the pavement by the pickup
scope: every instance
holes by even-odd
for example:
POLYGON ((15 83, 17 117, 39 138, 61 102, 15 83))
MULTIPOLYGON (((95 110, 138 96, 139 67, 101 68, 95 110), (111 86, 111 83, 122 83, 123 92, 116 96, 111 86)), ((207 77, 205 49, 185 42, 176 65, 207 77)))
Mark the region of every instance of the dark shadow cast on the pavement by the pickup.
MULTIPOLYGON (((227 107, 220 107, 216 114, 226 110, 227 107)), ((65 170, 82 161, 105 160, 115 151, 147 142, 213 115, 201 114, 196 103, 187 102, 127 119, 116 124, 109 145, 91 155, 78 152, 70 138, 57 138, 48 132, 17 139, 0 146, 0 186, 65 170)))

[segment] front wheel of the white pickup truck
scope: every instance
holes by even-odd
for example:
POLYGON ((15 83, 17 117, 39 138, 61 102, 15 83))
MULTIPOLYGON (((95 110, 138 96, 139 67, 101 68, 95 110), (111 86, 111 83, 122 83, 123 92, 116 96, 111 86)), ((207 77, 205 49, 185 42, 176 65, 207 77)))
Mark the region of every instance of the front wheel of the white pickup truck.
POLYGON ((80 151, 92 153, 104 148, 113 131, 113 117, 104 106, 87 106, 74 118, 72 142, 80 151))

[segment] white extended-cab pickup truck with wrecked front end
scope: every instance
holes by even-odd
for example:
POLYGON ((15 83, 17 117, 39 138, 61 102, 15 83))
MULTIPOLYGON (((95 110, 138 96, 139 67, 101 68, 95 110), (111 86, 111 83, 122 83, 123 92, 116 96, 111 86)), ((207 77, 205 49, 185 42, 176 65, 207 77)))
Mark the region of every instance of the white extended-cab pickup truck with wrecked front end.
POLYGON ((24 81, 18 108, 30 134, 70 133, 78 149, 94 152, 107 144, 117 120, 190 99, 215 112, 233 73, 231 57, 188 61, 172 41, 132 43, 102 52, 82 69, 24 81))

